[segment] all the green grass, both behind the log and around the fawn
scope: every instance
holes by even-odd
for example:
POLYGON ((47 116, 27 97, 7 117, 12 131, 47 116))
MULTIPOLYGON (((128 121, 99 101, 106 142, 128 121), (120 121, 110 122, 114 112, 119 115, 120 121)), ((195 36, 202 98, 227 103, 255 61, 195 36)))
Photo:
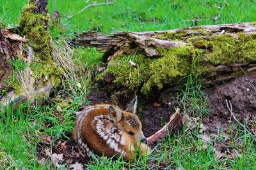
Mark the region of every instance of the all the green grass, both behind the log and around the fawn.
MULTIPOLYGON (((0 20, 9 26, 18 24, 20 11, 27 0, 0 2, 0 20)), ((49 0, 49 13, 58 9, 61 13, 62 25, 72 36, 73 32, 95 30, 104 33, 115 31, 155 31, 188 27, 194 23, 189 20, 200 18, 200 25, 225 24, 232 22, 250 22, 256 20, 254 1, 135 1, 120 0, 113 4, 93 6, 78 13, 84 6, 105 1, 53 1, 49 0), (218 15, 217 6, 223 6, 221 16, 216 21, 212 17, 218 15), (238 7, 237 7, 238 6, 238 7), (71 17, 71 18, 70 18, 71 17), (70 18, 70 19, 68 19, 70 18)), ((55 59, 65 57, 67 62, 58 63, 63 67, 67 77, 63 79, 63 87, 54 92, 56 97, 47 104, 34 107, 30 103, 22 103, 18 108, 0 106, 0 169, 50 169, 51 162, 42 166, 36 160, 36 147, 40 136, 47 134, 53 143, 60 137, 68 138, 72 131, 74 111, 86 103, 84 96, 91 87, 92 70, 99 66, 102 54, 94 48, 78 48, 74 51, 64 49, 61 36, 63 30, 51 27, 51 35, 56 50, 55 59), (60 56, 61 53, 61 56, 60 56), (68 72, 68 61, 72 60, 74 69, 68 72), (86 75, 86 76, 84 76, 86 75), (78 85, 80 83, 81 87, 78 85), (65 96, 63 98, 61 96, 65 96), (61 111, 56 112, 60 107, 61 111), (66 136, 66 137, 65 137, 66 136), (4 163, 3 163, 4 162, 4 163)), ((63 38, 63 39, 62 39, 63 38)), ((68 48, 68 46, 66 46, 68 48)), ((199 59, 200 55, 198 55, 199 59)), ((20 60, 12 63, 17 71, 24 69, 20 60)), ((186 89, 181 92, 180 106, 184 113, 193 117, 204 117, 208 113, 205 106, 207 96, 202 92, 200 73, 194 73, 196 62, 188 74, 186 89)), ((199 127, 198 127, 199 128, 199 127)), ((194 131, 183 129, 178 134, 167 136, 157 143, 150 157, 136 157, 132 162, 97 157, 86 164, 88 169, 253 169, 256 167, 255 145, 252 134, 239 131, 237 138, 232 139, 230 149, 238 150, 241 155, 236 159, 223 157, 218 159, 214 153, 214 142, 223 141, 221 135, 213 142, 205 143, 198 136, 198 128, 194 131), (238 143, 238 144, 237 144, 238 143)), ((232 131, 232 127, 230 127, 232 131)), ((224 141, 223 141, 224 142, 224 141)), ((227 151, 225 151, 227 152, 227 151)))

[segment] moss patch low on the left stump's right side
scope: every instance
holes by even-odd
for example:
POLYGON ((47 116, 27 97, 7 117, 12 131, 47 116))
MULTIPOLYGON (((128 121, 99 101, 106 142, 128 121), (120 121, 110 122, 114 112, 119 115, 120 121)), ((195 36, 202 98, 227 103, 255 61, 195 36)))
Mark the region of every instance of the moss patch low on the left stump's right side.
POLYGON ((43 81, 51 80, 54 88, 58 87, 61 82, 61 68, 53 62, 33 62, 30 64, 32 76, 35 80, 43 81))

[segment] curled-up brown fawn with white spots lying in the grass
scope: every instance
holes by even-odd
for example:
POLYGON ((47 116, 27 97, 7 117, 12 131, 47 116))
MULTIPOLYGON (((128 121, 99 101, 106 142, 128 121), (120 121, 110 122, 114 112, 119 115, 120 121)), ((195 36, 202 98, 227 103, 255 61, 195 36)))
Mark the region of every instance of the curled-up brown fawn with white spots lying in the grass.
POLYGON ((145 155, 150 154, 147 138, 141 131, 141 122, 134 113, 137 97, 125 111, 109 104, 89 106, 77 112, 73 138, 78 143, 79 153, 83 157, 92 157, 92 153, 116 158, 123 155, 131 160, 136 148, 145 155))

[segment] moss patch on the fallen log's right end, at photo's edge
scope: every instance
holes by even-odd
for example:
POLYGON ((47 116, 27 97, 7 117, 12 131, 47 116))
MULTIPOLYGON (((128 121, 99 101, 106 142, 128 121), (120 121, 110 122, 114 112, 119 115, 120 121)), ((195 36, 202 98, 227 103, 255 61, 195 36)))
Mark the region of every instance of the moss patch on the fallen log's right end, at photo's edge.
POLYGON ((195 48, 204 49, 206 62, 212 64, 228 64, 256 60, 256 34, 237 33, 211 36, 193 41, 195 48))

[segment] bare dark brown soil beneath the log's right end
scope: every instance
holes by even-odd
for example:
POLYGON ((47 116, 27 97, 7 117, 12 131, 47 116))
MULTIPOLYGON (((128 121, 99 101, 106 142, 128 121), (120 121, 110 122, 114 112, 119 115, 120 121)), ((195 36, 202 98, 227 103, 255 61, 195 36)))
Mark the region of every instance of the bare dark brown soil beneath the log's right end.
POLYGON ((219 128, 225 132, 230 124, 237 124, 228 110, 226 99, 232 104, 232 112, 241 124, 252 124, 253 120, 256 120, 255 87, 256 75, 251 75, 241 76, 209 90, 207 104, 211 111, 209 116, 204 118, 204 124, 211 132, 218 132, 219 128))

